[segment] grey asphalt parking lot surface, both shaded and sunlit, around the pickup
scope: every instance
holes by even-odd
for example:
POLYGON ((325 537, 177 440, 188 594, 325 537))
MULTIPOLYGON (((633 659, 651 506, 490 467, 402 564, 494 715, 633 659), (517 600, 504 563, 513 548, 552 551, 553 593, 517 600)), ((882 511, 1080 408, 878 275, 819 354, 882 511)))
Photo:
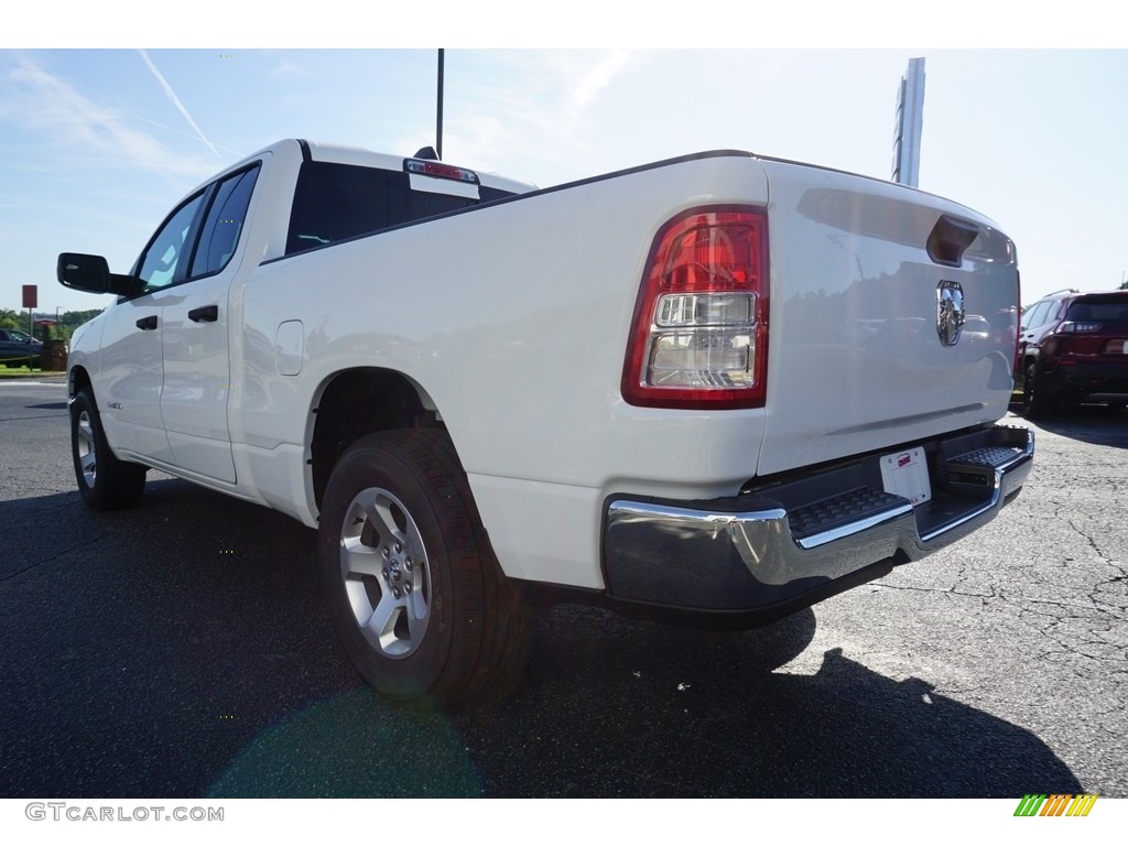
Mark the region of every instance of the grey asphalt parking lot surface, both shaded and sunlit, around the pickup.
POLYGON ((157 473, 88 511, 36 381, 0 382, 0 796, 1128 796, 1122 412, 1036 426, 999 519, 879 582, 751 633, 557 606, 444 715, 359 681, 290 518, 157 473))

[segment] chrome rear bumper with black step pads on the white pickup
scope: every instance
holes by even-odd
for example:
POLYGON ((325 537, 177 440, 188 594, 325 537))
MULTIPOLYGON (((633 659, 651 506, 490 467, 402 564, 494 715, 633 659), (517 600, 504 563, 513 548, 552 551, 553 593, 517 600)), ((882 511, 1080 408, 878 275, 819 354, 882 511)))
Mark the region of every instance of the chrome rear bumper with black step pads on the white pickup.
POLYGON ((791 486, 708 502, 610 497, 608 596, 759 614, 765 622, 790 614, 990 521, 1029 475, 1034 437, 995 426, 936 440, 926 450, 933 499, 917 506, 864 484, 876 457, 791 486))

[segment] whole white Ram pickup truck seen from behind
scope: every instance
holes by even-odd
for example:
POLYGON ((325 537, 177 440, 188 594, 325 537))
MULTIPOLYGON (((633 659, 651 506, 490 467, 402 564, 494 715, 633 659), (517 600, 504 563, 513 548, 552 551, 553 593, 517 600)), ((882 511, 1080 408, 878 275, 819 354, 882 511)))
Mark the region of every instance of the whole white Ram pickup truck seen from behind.
POLYGON ((1033 438, 1014 246, 904 186, 748 152, 548 190, 281 141, 193 191, 69 359, 78 486, 158 468, 316 527, 350 659, 440 706, 528 600, 756 625, 982 526, 1033 438), (550 588, 550 591, 532 590, 550 588))

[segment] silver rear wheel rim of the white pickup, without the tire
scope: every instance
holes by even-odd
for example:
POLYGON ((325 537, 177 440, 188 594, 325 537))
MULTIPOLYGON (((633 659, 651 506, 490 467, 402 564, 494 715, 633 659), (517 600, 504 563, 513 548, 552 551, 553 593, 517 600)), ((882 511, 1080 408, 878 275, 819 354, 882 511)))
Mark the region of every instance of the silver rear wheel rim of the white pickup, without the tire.
POLYGON ((418 526, 390 491, 368 487, 345 509, 341 579, 369 645, 393 659, 418 649, 431 618, 431 571, 418 526))

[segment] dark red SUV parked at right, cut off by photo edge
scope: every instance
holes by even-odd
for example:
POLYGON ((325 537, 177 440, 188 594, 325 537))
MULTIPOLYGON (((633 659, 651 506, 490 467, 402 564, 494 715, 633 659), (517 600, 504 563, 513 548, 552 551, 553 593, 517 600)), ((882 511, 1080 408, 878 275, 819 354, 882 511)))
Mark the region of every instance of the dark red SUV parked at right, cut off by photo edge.
POLYGON ((1028 417, 1066 403, 1128 405, 1128 291, 1060 291, 1026 308, 1015 388, 1028 417))

